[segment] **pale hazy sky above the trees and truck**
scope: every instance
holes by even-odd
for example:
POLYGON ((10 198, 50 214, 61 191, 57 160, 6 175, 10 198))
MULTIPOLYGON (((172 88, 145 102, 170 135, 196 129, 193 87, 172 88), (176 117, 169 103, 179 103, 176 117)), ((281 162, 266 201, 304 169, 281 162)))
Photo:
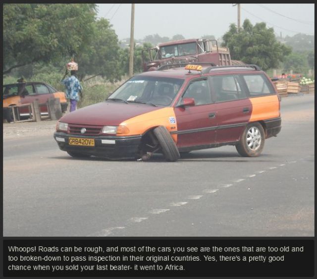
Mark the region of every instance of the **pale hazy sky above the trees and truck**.
MULTIPOLYGON (((98 4, 99 17, 110 20, 119 40, 130 38, 131 3, 98 4)), ((241 25, 248 18, 254 25, 266 22, 275 34, 315 35, 315 4, 241 4, 241 25)), ((214 35, 216 39, 237 24, 237 6, 232 4, 135 4, 134 38, 159 34, 185 38, 214 35)))

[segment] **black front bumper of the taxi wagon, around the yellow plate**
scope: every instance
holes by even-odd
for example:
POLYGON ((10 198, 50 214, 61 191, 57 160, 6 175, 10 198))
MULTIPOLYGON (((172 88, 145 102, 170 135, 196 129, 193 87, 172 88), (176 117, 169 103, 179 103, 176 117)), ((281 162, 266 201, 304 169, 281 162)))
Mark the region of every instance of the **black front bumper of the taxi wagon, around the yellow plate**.
POLYGON ((141 142, 139 136, 81 136, 55 132, 54 139, 62 151, 79 152, 107 159, 135 159, 141 142), (68 139, 84 138, 94 139, 95 146, 69 145, 68 139))

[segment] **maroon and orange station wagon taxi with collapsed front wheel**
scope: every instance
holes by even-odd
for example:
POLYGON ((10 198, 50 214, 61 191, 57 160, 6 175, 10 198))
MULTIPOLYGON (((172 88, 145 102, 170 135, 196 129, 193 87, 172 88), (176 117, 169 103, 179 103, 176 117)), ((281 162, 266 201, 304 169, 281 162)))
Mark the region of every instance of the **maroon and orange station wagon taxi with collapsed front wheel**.
POLYGON ((256 157, 280 130, 280 99, 257 65, 190 64, 133 76, 105 102, 61 117, 54 138, 72 157, 163 153, 176 161, 182 152, 222 145, 256 157))

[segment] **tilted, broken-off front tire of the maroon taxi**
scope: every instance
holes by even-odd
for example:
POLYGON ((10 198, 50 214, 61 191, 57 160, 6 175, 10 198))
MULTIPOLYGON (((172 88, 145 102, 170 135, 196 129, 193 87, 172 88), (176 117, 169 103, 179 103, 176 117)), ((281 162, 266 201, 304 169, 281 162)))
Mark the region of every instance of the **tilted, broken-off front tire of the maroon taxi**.
POLYGON ((180 158, 179 151, 166 127, 156 127, 153 132, 159 141, 165 160, 168 162, 177 161, 180 158))

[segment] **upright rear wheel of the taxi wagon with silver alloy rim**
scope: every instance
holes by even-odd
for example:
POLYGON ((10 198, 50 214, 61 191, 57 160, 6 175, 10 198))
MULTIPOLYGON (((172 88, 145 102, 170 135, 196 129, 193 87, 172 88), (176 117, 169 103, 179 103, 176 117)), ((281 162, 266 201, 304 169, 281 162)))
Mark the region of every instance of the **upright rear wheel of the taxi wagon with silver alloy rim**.
POLYGON ((258 157, 264 148, 264 141, 262 125, 258 122, 250 123, 243 131, 236 149, 243 157, 258 157))

